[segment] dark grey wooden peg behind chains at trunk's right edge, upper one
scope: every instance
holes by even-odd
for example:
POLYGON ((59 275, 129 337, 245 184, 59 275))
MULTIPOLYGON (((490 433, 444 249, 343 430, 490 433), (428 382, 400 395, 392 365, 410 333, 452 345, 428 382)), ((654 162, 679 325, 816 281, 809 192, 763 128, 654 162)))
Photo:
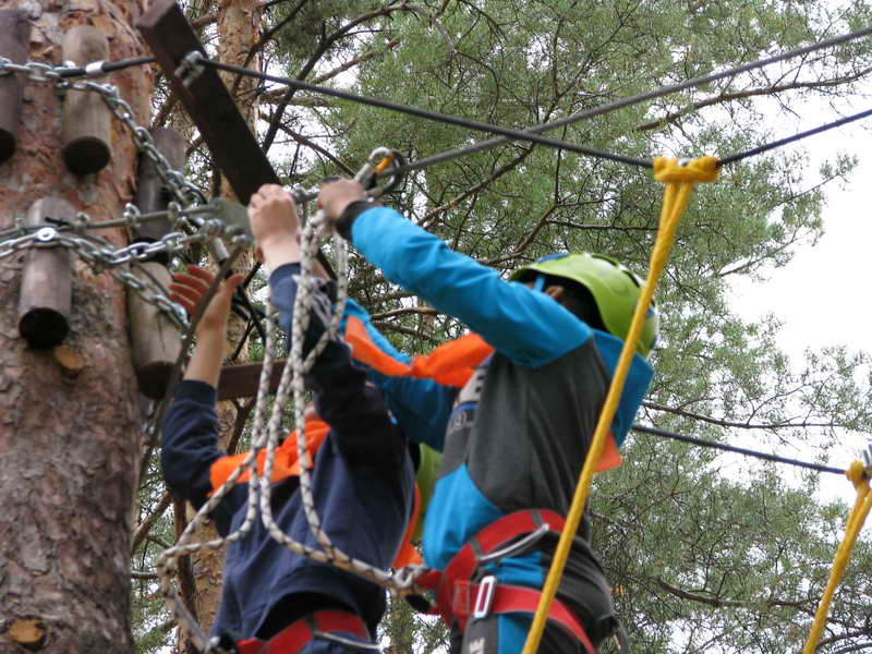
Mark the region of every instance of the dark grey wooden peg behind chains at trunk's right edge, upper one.
MULTIPOLYGON (((184 153, 187 145, 184 137, 169 128, 156 128, 152 130, 152 138, 157 150, 166 157, 172 169, 181 170, 184 166, 184 153)), ((146 214, 166 210, 172 199, 157 172, 155 162, 147 155, 141 155, 140 168, 136 173, 136 196, 133 204, 143 214, 146 214)), ((170 230, 172 230, 172 225, 169 219, 145 222, 133 228, 132 241, 153 243, 159 241, 170 230)), ((154 261, 167 265, 169 264, 169 254, 161 252, 155 255, 154 261)))

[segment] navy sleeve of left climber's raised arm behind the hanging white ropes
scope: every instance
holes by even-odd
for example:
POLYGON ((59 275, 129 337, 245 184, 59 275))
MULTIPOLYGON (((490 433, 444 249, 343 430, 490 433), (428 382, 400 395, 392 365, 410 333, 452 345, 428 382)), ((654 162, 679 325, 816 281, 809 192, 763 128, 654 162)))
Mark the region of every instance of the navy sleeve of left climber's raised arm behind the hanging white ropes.
MULTIPOLYGON (((299 274, 299 264, 288 264, 269 278, 272 304, 279 310, 279 323, 289 339, 299 274)), ((318 284, 313 290, 304 353, 324 332, 329 319, 331 299, 326 289, 327 284, 318 284)), ((315 390, 318 415, 330 425, 340 451, 351 463, 398 473, 402 470, 405 437, 391 420, 379 390, 367 385, 366 373, 352 364, 348 346, 329 341, 315 360, 307 382, 315 390)))

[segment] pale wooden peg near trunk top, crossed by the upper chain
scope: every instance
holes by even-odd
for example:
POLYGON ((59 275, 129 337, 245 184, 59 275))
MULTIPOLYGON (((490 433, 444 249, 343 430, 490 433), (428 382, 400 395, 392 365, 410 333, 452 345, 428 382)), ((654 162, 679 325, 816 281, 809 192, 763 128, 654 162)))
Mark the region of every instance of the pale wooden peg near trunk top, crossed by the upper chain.
MULTIPOLYGON (((63 35, 63 60, 84 66, 109 57, 109 40, 96 27, 76 25, 63 35)), ((63 101, 63 161, 76 174, 102 170, 112 155, 111 111, 99 94, 70 90, 63 101)))

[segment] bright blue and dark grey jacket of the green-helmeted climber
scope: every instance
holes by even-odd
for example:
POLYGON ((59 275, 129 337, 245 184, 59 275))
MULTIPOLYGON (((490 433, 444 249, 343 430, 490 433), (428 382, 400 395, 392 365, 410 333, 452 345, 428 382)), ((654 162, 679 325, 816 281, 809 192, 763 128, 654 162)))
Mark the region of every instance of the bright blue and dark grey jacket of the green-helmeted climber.
MULTIPOLYGON (((506 513, 545 508, 566 514, 622 341, 452 252, 390 208, 359 214, 351 240, 387 279, 460 318, 496 349, 445 420, 444 461, 424 526, 425 562, 443 569, 506 513)), ((611 424, 617 446, 651 378, 651 366, 635 355, 611 424)), ((507 583, 541 586, 555 545, 545 538, 540 552, 504 559, 489 571, 507 583)), ((585 537, 573 543, 559 594, 586 620, 611 616, 608 585, 585 537)))

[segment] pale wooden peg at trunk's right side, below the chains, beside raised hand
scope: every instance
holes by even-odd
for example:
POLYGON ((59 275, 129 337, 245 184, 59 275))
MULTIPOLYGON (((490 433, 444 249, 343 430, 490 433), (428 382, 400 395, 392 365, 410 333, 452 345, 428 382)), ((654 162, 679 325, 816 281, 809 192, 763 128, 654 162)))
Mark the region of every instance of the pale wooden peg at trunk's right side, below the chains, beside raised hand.
MULTIPOLYGON (((170 286, 170 271, 162 264, 146 262, 142 267, 164 288, 170 286)), ((152 400, 159 400, 164 397, 170 373, 182 350, 181 335, 164 312, 143 300, 138 293, 128 293, 128 318, 133 370, 136 371, 140 392, 152 400)))

